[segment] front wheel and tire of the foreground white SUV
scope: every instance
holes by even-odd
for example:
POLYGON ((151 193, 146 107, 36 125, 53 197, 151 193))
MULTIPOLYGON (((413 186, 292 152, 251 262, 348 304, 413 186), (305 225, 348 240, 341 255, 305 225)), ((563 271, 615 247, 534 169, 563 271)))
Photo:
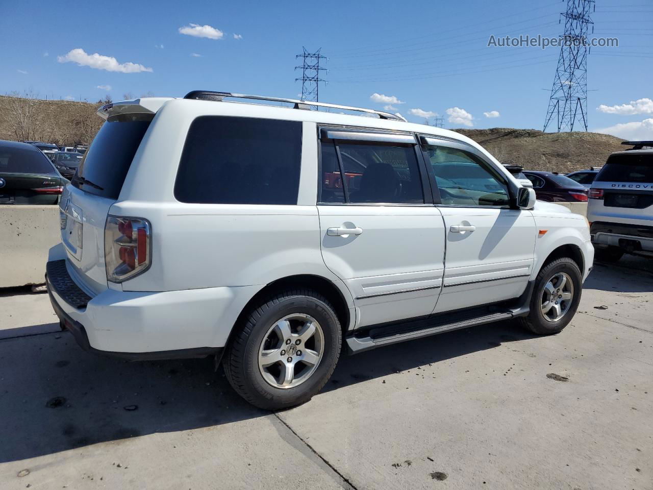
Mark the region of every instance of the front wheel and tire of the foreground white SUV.
POLYGON ((581 302, 582 275, 577 263, 562 257, 546 264, 535 278, 528 316, 520 323, 537 335, 559 333, 581 302))

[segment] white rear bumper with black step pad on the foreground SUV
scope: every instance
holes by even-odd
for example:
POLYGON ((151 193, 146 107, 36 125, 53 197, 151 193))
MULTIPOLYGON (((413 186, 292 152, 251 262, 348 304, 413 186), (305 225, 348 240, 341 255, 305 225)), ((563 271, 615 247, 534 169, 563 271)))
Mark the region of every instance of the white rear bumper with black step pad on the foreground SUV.
POLYGON ((106 289, 89 297, 72 280, 65 260, 48 262, 47 270, 52 307, 78 344, 84 350, 133 360, 219 354, 238 314, 260 289, 159 293, 106 289))

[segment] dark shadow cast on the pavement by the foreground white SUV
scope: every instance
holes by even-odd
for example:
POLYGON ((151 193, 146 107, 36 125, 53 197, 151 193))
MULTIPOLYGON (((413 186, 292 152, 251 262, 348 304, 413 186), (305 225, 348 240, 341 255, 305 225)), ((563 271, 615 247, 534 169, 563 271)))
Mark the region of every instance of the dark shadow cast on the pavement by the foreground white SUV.
MULTIPOLYGON (((503 322, 343 355, 323 391, 524 338, 503 322)), ((66 332, 0 342, 0 462, 268 413, 238 397, 212 358, 128 363, 86 353, 66 332)))

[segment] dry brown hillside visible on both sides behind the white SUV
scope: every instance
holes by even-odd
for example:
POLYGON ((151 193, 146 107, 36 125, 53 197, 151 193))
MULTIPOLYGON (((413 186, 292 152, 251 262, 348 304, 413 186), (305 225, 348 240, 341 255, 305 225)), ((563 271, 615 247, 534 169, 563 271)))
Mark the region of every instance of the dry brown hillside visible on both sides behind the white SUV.
MULTIPOLYGON (((0 96, 0 139, 89 143, 103 120, 97 104, 0 96)), ((535 129, 455 129, 479 142, 503 163, 531 170, 571 172, 601 166, 622 150, 621 139, 598 133, 543 133, 535 129)))

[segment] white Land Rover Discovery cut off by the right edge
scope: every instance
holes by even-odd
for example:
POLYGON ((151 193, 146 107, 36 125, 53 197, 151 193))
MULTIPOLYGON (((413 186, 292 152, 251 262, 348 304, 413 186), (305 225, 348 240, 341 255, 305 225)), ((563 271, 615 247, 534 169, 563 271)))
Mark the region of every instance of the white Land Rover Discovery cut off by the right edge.
POLYGON ((587 219, 597 260, 653 257, 653 141, 611 154, 590 188, 587 219))

